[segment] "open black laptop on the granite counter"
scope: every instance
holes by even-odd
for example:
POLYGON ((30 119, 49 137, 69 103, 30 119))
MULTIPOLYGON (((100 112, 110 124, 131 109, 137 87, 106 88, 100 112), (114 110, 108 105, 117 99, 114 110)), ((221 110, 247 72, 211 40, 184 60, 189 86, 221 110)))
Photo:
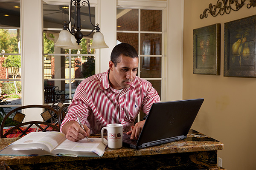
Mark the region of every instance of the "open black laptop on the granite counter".
POLYGON ((142 149, 185 139, 204 99, 154 103, 138 140, 123 134, 123 146, 142 149))

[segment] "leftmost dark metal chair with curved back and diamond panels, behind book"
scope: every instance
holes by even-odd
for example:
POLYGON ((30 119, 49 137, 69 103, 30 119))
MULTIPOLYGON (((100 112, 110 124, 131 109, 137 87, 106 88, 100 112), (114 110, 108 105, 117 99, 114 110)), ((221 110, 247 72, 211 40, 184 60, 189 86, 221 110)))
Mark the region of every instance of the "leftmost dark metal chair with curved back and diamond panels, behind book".
POLYGON ((46 122, 47 120, 52 119, 52 113, 55 113, 58 115, 58 111, 45 105, 26 105, 26 106, 15 108, 9 113, 7 113, 6 116, 3 118, 3 121, 0 127, 0 138, 7 138, 9 134, 12 134, 15 132, 21 133, 17 137, 22 137, 23 135, 26 135, 27 132, 29 132, 29 129, 30 127, 32 127, 32 125, 36 125, 39 128, 39 130, 42 130, 43 132, 45 132, 46 130, 59 131, 59 127, 57 127, 58 123, 55 123, 55 125, 53 125, 46 122), (23 122, 26 115, 23 114, 22 111, 24 111, 24 109, 29 109, 29 108, 43 108, 44 112, 41 113, 41 116, 43 117, 44 122, 43 121, 23 122), (18 125, 15 125, 14 127, 10 127, 6 133, 3 133, 4 131, 3 127, 5 125, 6 120, 9 117, 11 117, 14 122, 17 122, 18 125), (25 125, 28 125, 28 126, 25 127, 25 125))

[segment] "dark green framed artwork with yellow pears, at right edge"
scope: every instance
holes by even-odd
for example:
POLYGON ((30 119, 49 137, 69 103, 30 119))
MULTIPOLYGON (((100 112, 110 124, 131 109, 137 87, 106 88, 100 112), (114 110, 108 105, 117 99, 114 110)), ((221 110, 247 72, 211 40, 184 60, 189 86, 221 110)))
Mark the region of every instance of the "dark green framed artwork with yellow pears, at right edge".
POLYGON ((224 23, 224 76, 256 77, 256 15, 224 23))

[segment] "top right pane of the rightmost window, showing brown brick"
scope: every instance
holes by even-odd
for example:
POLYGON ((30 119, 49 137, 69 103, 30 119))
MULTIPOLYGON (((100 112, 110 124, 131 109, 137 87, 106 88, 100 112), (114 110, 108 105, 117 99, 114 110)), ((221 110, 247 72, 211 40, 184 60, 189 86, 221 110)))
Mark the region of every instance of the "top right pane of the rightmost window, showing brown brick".
POLYGON ((141 10, 140 11, 141 31, 162 31, 162 11, 141 10))

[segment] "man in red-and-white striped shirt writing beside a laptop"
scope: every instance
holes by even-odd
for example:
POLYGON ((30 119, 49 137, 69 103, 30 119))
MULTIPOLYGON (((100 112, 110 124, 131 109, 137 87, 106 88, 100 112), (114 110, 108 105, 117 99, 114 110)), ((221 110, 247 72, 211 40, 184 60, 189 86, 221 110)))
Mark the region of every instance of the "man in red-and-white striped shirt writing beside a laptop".
POLYGON ((122 124, 131 139, 139 137, 145 120, 134 125, 135 118, 140 110, 148 114, 151 105, 160 102, 160 97, 150 82, 136 76, 138 63, 135 48, 121 43, 111 52, 107 72, 95 74, 79 84, 61 124, 67 139, 76 142, 90 133, 101 133, 102 127, 111 123, 122 124))

